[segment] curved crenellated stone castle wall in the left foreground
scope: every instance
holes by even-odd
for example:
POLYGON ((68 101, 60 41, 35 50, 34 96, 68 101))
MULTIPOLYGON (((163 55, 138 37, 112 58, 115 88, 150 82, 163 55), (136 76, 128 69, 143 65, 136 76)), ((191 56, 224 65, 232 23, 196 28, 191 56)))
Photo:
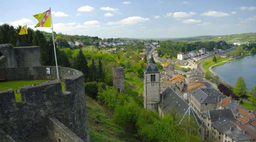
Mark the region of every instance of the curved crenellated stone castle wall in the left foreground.
MULTIPOLYGON (((51 75, 46 75, 46 67, 0 68, 0 73, 6 74, 6 80, 56 79, 56 68, 51 66, 51 75)), ((61 80, 21 87, 20 102, 16 102, 12 89, 0 91, 0 129, 16 141, 34 142, 49 136, 47 122, 52 116, 89 142, 83 74, 66 67, 59 68, 59 72, 65 91, 61 80)), ((58 136, 64 140, 63 135, 58 136)))

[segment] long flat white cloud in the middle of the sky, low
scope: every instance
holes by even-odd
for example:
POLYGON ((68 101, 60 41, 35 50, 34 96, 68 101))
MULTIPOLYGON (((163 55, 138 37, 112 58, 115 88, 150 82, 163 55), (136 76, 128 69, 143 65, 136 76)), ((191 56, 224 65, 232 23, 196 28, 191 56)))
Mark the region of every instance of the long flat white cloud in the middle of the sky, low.
POLYGON ((107 24, 136 24, 136 23, 142 22, 142 21, 149 21, 149 18, 133 16, 133 17, 124 18, 121 21, 108 22, 107 24))

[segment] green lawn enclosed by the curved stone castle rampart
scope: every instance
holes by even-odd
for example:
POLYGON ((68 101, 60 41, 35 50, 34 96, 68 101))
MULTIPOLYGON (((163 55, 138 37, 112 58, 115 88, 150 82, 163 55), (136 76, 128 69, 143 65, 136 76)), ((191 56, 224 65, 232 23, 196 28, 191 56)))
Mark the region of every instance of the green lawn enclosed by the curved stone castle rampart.
MULTIPOLYGON (((13 89, 15 93, 16 102, 21 101, 20 93, 16 93, 16 87, 26 86, 30 84, 37 84, 41 82, 46 82, 48 80, 18 80, 18 81, 7 81, 7 82, 0 82, 0 90, 5 89, 13 89)), ((64 90, 64 83, 62 82, 62 90, 64 90)))

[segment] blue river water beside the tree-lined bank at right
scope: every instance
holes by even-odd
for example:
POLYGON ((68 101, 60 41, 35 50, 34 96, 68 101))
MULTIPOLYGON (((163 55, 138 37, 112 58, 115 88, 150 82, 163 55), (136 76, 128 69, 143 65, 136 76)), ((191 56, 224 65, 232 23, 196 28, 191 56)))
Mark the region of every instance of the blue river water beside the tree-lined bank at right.
POLYGON ((256 55, 231 60, 230 63, 213 67, 212 70, 216 72, 222 80, 233 85, 235 85, 238 77, 242 76, 247 84, 247 90, 256 85, 256 55))

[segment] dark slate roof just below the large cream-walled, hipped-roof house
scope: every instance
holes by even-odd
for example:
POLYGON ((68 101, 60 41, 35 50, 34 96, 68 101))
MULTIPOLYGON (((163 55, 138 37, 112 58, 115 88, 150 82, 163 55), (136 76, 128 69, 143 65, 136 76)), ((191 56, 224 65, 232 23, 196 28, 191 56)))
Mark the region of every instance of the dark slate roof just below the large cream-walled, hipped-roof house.
POLYGON ((218 121, 220 115, 230 120, 236 120, 231 109, 208 110, 208 111, 202 111, 200 112, 200 114, 204 117, 210 118, 212 122, 218 121))

